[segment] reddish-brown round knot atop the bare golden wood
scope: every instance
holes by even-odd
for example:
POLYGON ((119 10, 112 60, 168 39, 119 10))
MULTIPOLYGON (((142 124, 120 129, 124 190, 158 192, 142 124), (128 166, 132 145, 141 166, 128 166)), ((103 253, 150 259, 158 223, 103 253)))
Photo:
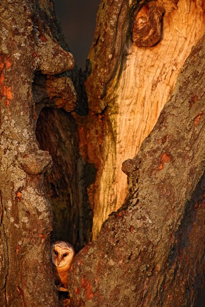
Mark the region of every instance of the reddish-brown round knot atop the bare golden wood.
POLYGON ((162 6, 148 3, 136 14, 132 29, 132 39, 137 47, 153 47, 161 40, 162 6))

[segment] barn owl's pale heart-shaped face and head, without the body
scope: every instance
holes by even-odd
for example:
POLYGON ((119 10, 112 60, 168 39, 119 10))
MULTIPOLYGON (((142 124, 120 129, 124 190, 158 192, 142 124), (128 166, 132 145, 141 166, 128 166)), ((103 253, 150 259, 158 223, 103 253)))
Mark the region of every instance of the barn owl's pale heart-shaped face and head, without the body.
POLYGON ((73 246, 64 241, 56 241, 51 245, 52 262, 55 267, 64 267, 71 264, 75 251, 73 246))

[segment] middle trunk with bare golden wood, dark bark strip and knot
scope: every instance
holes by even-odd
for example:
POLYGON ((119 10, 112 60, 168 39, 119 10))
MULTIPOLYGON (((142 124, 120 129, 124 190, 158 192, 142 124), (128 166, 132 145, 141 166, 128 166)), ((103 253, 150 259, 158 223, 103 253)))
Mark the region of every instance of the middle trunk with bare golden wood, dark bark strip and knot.
POLYGON ((200 1, 101 1, 85 80, 91 112, 78 121, 81 155, 97 169, 88 189, 93 238, 124 202, 121 164, 156 123, 204 32, 204 16, 200 1))

